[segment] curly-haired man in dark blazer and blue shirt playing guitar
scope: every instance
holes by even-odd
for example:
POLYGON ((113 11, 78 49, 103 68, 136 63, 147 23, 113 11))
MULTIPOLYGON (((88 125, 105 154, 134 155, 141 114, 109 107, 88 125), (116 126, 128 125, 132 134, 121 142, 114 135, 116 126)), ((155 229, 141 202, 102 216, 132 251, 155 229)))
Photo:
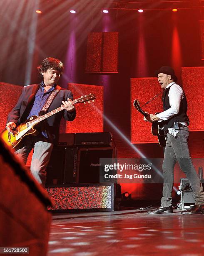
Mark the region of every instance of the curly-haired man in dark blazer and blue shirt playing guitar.
POLYGON ((39 113, 42 115, 42 110, 46 109, 46 105, 48 109, 45 112, 55 110, 62 104, 65 106, 65 110, 51 115, 36 127, 37 136, 25 136, 23 143, 15 151, 15 154, 26 163, 28 154, 32 148, 34 149, 30 171, 35 179, 42 186, 45 186, 46 167, 50 160, 53 145, 57 144, 59 138, 60 120, 62 116, 67 121, 74 120, 76 111, 72 104, 72 92, 57 85, 64 70, 63 63, 58 59, 46 58, 37 69, 42 77, 42 82, 23 87, 17 104, 8 114, 6 128, 10 133, 16 134, 17 125, 25 122, 28 118, 32 118, 33 115, 39 116, 39 113), (51 95, 55 96, 52 97, 51 95))

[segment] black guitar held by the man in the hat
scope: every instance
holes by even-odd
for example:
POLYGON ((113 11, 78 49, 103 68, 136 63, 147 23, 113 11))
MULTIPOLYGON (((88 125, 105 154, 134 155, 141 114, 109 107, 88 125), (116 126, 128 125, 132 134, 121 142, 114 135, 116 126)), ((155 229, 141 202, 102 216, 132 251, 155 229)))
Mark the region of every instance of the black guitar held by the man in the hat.
MULTIPOLYGON (((142 108, 140 108, 139 106, 139 100, 135 99, 134 100, 134 108, 136 108, 139 113, 141 113, 142 115, 144 115, 145 117, 148 116, 147 113, 144 112, 144 110, 142 110, 142 108)), ((155 113, 155 115, 158 113, 155 113)), ((152 135, 157 136, 158 141, 159 141, 159 145, 162 147, 166 146, 167 143, 167 139, 166 139, 166 135, 167 135, 168 131, 164 131, 164 127, 162 125, 162 122, 153 122, 152 123, 152 135)))

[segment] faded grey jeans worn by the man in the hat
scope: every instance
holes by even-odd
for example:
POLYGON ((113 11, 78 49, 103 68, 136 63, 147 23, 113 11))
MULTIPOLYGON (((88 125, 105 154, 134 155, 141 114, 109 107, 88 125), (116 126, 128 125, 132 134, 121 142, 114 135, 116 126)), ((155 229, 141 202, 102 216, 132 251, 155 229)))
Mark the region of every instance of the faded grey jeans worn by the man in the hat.
POLYGON ((178 161, 180 168, 189 179, 193 190, 193 196, 196 205, 204 205, 204 192, 197 172, 192 163, 188 146, 189 128, 180 128, 177 136, 167 134, 167 145, 165 147, 163 174, 164 186, 161 205, 168 207, 172 205, 172 189, 174 184, 174 166, 178 161))

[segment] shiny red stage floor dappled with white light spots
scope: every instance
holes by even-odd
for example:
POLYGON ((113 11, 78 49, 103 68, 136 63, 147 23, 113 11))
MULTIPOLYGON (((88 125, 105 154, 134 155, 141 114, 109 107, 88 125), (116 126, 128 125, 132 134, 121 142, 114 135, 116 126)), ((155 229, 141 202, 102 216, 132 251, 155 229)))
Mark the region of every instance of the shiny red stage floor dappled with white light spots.
POLYGON ((180 212, 53 214, 48 256, 204 255, 204 215, 180 212))

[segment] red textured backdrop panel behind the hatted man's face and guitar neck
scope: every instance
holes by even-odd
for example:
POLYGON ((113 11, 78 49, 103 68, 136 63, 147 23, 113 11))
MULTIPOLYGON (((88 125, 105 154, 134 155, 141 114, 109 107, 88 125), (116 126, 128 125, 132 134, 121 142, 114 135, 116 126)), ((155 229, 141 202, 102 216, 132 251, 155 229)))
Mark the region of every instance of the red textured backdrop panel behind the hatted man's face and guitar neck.
MULTIPOLYGON (((152 143, 158 142, 157 136, 151 133, 152 125, 143 121, 143 115, 140 114, 133 106, 134 99, 138 99, 140 106, 152 99, 154 95, 161 92, 157 78, 131 78, 131 143, 152 143)), ((162 111, 162 95, 144 108, 148 113, 156 113, 162 111)))

